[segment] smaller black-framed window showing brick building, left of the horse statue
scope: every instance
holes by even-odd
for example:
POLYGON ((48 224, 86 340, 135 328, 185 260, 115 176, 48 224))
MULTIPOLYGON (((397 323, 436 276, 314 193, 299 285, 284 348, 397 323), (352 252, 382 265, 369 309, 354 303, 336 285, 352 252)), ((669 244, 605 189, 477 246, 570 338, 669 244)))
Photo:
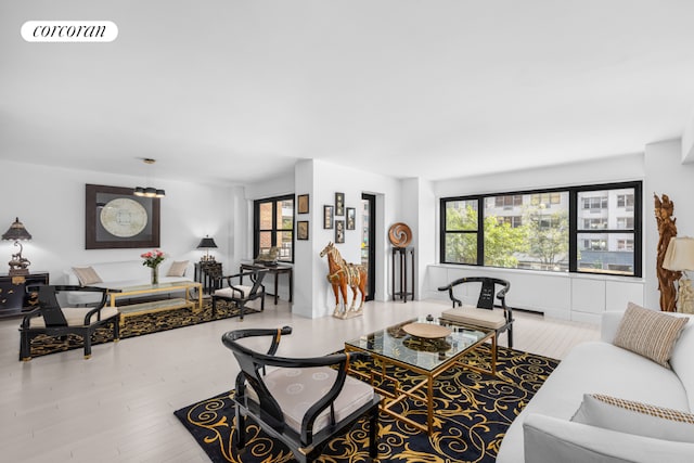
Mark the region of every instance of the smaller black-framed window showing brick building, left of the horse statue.
POLYGON ((278 260, 294 261, 294 195, 254 202, 254 256, 278 248, 278 260))

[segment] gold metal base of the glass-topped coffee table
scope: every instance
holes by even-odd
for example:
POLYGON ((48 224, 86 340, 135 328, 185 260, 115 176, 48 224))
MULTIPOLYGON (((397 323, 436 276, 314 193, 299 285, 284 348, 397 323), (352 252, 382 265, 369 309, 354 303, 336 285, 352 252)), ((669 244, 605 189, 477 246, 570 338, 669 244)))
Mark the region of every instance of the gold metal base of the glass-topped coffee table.
POLYGON ((370 370, 369 374, 356 371, 354 369, 349 369, 349 373, 355 376, 361 377, 362 380, 368 381, 373 388, 382 395, 384 398, 381 401, 381 411, 400 420, 410 426, 423 430, 427 433, 429 436, 434 432, 434 382, 438 376, 440 376, 446 371, 450 370, 454 365, 460 365, 462 368, 478 372, 490 374, 492 376, 497 375, 497 332, 491 331, 485 337, 479 339, 477 343, 467 347, 464 351, 458 353, 457 356, 451 357, 446 362, 441 363, 435 370, 427 371, 424 369, 416 368, 412 364, 399 362, 397 360, 380 356, 370 351, 369 349, 360 349, 355 346, 345 345, 345 351, 364 351, 371 353, 374 362, 381 365, 381 370, 370 370), (483 369, 478 365, 471 365, 465 363, 463 358, 470 355, 472 351, 477 350, 481 345, 487 342, 491 342, 491 359, 489 362, 489 369, 483 369), (415 375, 422 376, 421 381, 414 383, 414 385, 410 388, 406 387, 399 380, 389 376, 386 374, 386 370, 388 366, 399 366, 406 369, 415 375), (386 386, 385 383, 389 383, 390 387, 386 386), (395 406, 404 401, 404 400, 415 400, 426 404, 426 424, 417 423, 401 413, 393 410, 395 406))

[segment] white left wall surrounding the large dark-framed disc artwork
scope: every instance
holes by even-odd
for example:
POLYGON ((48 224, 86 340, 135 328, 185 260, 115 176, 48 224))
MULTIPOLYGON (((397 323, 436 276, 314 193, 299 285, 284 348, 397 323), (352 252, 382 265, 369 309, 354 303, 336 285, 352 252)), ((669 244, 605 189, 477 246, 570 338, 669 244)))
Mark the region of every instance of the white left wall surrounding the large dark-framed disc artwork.
MULTIPOLYGON (((63 271, 75 265, 138 260, 146 249, 85 249, 85 184, 134 187, 141 177, 108 172, 61 169, 0 160, 3 180, 0 196, 2 233, 15 217, 31 233, 23 255, 31 261, 29 271, 48 271, 52 283, 65 283, 63 271)), ((171 259, 200 260, 200 240, 209 234, 217 249, 210 254, 220 261, 230 259, 226 234, 231 222, 230 191, 226 188, 175 181, 156 181, 166 190, 162 198, 160 246, 171 259)), ((13 242, 0 242, 0 258, 10 260, 17 250, 13 242)), ((163 268, 168 268, 167 262, 163 268)), ((7 272, 7 269, 0 270, 7 272)))

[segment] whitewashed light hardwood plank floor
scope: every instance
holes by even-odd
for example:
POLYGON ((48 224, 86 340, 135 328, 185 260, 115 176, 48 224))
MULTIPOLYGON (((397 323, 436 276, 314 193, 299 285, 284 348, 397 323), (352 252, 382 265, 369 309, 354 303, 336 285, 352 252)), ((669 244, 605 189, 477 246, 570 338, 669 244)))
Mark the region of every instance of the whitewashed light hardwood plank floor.
MULTIPOLYGON (((439 313, 444 301, 369 303, 364 316, 293 317, 268 300, 262 313, 204 323, 81 350, 17 361, 20 320, 0 321, 1 462, 207 462, 174 411, 233 388, 236 362, 220 342, 240 327, 290 325, 280 355, 310 357, 410 317, 439 313)), ((563 358, 599 337, 597 326, 515 312, 514 347, 563 358)), ((505 335, 500 339, 506 345, 505 335)))

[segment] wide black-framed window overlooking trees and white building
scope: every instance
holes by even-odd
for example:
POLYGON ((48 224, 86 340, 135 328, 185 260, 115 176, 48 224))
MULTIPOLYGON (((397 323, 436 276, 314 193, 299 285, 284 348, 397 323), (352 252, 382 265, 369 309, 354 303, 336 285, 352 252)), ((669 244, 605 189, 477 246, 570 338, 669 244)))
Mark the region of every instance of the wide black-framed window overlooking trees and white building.
POLYGON ((641 182, 441 198, 441 262, 641 275, 641 182))

